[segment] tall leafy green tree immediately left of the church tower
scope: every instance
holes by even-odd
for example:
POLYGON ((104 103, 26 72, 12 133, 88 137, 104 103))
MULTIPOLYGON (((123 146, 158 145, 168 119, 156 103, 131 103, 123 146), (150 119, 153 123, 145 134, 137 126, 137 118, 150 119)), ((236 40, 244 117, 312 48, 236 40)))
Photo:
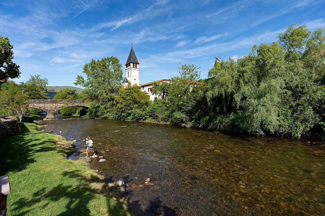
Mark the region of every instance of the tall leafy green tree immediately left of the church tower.
POLYGON ((97 61, 92 59, 85 64, 83 73, 86 78, 78 75, 74 84, 85 88, 80 97, 90 103, 88 115, 99 117, 107 114, 123 80, 120 60, 114 56, 97 61))

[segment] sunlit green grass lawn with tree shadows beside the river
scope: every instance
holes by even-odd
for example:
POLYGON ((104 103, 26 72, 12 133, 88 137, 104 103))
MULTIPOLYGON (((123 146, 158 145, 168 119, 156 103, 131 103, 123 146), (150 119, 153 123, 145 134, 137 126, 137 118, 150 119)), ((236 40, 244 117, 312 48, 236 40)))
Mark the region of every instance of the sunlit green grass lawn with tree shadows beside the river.
POLYGON ((0 176, 8 174, 7 215, 133 215, 124 199, 111 198, 103 176, 69 161, 66 141, 37 131, 34 123, 2 139, 0 176))

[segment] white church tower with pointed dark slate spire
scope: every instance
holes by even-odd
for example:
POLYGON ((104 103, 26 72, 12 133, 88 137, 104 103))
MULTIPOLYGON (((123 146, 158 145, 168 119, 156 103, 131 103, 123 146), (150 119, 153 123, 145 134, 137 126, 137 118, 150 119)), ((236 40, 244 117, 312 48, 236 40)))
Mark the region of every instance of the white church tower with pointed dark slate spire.
POLYGON ((127 86, 128 82, 131 82, 131 85, 140 85, 139 65, 140 63, 136 58, 133 47, 131 47, 129 57, 125 63, 125 78, 123 80, 124 87, 127 86))

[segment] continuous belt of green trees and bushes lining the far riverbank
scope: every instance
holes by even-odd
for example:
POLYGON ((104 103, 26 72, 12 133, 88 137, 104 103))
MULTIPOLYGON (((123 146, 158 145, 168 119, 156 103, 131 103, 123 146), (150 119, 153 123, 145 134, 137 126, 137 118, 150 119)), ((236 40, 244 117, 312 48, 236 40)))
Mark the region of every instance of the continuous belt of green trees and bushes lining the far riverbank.
POLYGON ((180 65, 172 82, 153 83, 153 93, 163 96, 153 102, 137 86, 121 87, 115 57, 92 60, 84 67, 87 79, 78 76, 74 84, 85 88, 81 98, 91 103, 90 117, 324 139, 324 59, 323 30, 293 24, 277 42, 254 45, 237 60, 216 61, 207 79, 200 79, 197 66, 180 65))

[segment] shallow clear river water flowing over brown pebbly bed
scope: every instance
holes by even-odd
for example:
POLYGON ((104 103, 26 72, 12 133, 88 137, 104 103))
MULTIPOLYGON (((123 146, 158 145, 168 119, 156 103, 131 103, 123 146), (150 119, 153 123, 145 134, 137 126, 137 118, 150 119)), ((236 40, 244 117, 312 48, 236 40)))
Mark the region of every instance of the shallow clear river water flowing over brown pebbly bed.
POLYGON ((142 215, 325 214, 324 144, 58 118, 44 123, 53 133, 67 130, 61 135, 76 139, 77 148, 85 148, 82 140, 89 135, 108 160, 90 166, 107 181, 123 178, 128 202, 142 215), (143 184, 147 178, 153 185, 143 184))

